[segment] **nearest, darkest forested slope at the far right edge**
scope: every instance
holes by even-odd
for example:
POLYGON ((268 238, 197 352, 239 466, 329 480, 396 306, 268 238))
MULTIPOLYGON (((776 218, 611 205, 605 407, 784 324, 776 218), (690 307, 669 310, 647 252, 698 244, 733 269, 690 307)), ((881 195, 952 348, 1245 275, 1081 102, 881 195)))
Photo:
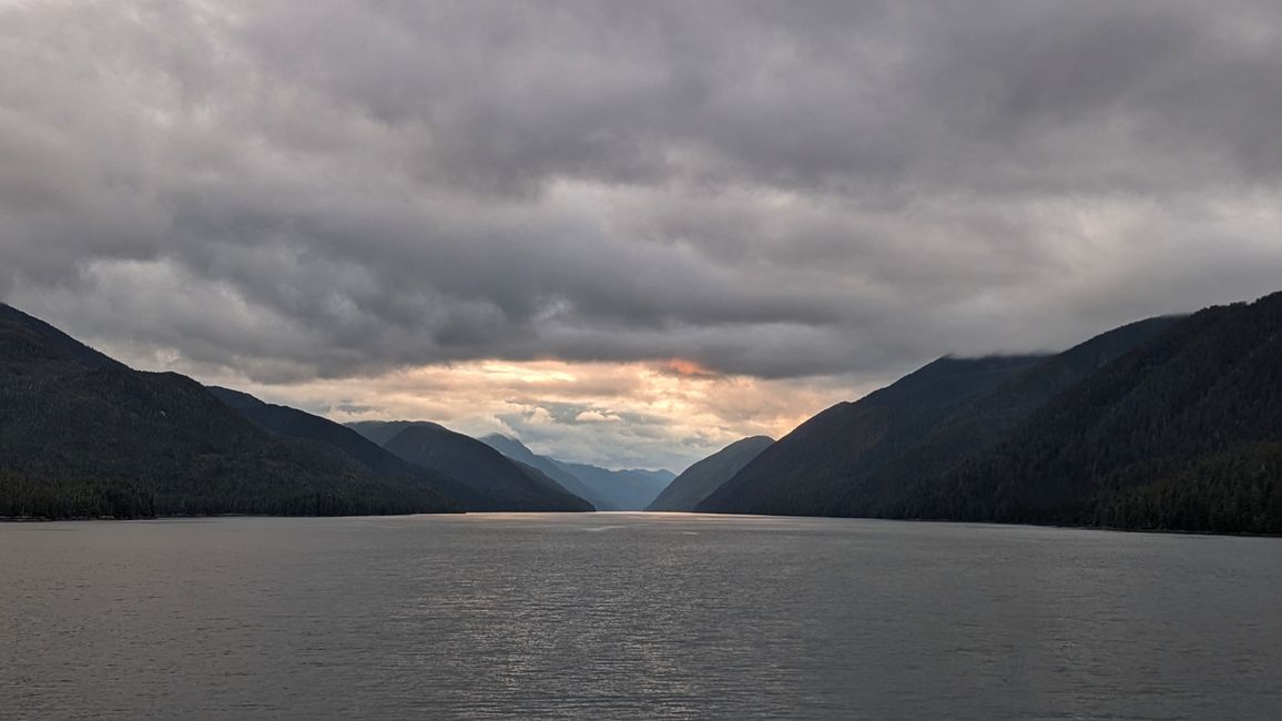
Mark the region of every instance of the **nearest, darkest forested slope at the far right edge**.
POLYGON ((1208 308, 894 512, 1282 532, 1282 294, 1208 308))

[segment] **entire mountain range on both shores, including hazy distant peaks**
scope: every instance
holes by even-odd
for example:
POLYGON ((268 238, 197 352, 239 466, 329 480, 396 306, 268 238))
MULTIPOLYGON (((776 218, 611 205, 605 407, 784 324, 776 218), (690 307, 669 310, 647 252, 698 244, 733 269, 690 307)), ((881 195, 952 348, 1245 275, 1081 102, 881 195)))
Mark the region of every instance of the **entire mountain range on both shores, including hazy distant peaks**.
POLYGON ((1282 532, 1282 294, 941 358, 772 443, 610 471, 133 371, 0 305, 0 516, 696 509, 1282 532), (674 480, 676 479, 676 480, 674 480))

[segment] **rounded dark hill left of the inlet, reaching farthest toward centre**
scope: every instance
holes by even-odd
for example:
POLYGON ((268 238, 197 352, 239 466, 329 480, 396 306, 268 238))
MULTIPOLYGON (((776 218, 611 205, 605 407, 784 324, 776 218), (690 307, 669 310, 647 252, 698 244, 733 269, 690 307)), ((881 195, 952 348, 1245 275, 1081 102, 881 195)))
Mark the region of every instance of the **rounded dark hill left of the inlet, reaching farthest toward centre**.
MULTIPOLYGON (((450 476, 488 498, 470 511, 592 511, 542 471, 510 461, 488 445, 427 421, 394 422, 400 428, 383 448, 424 468, 450 476)), ((354 423, 367 432, 372 423, 354 423)), ((367 436, 368 437, 368 436, 367 436)))

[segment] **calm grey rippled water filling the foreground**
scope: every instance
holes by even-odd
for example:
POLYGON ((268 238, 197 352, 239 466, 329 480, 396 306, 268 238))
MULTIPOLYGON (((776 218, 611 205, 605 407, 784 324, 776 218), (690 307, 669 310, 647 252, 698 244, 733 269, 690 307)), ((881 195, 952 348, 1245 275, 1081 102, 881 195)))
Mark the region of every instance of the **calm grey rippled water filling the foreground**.
POLYGON ((1279 718, 1282 539, 677 514, 0 525, 0 717, 1279 718))

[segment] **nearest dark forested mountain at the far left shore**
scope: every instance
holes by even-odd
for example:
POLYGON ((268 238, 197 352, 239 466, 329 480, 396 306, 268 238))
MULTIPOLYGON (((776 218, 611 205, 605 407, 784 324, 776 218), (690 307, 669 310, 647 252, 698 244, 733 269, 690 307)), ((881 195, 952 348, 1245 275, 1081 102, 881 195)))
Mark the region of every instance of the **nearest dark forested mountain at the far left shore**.
POLYGON ((331 446, 273 435, 191 378, 129 369, 0 304, 0 516, 454 508, 331 446))

